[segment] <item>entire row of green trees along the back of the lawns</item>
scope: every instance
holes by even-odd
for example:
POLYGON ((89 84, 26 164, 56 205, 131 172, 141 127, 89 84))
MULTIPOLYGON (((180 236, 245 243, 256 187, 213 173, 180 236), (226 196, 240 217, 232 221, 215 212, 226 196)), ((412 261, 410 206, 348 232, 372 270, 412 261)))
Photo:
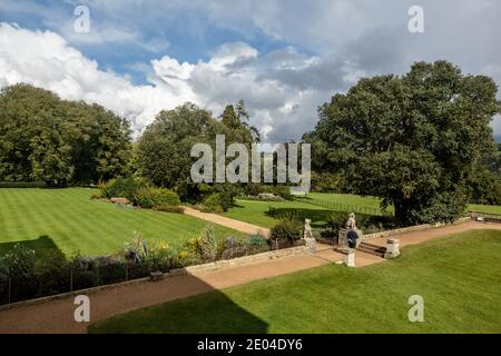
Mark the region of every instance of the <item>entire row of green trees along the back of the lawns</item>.
MULTIPOLYGON (((381 197, 404 224, 453 219, 469 199, 501 202, 490 128, 501 112, 497 90, 491 78, 446 61, 360 80, 321 106, 303 137, 314 184, 381 197)), ((218 134, 227 144, 259 140, 243 102, 218 119, 185 103, 159 112, 132 148, 127 121, 109 110, 18 85, 0 93, 0 180, 65 185, 134 174, 189 196, 200 192, 190 184, 190 148, 214 145, 218 134)))

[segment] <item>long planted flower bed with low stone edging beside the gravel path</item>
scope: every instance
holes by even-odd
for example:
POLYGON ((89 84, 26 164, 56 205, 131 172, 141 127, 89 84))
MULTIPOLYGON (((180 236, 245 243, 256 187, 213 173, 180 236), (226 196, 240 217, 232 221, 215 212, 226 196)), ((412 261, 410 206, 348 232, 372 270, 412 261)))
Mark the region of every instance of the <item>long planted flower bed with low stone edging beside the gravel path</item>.
POLYGON ((111 256, 67 258, 58 250, 31 250, 16 245, 0 257, 0 305, 70 293, 169 273, 179 268, 233 260, 301 246, 278 238, 254 235, 216 241, 214 229, 188 239, 181 246, 165 241, 146 243, 140 235, 111 256))

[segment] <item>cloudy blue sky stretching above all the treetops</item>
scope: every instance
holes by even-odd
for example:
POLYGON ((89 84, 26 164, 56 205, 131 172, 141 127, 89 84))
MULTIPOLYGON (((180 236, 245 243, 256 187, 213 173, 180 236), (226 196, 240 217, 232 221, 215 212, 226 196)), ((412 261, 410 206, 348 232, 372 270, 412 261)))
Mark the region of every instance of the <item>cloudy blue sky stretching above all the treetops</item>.
POLYGON ((298 140, 334 93, 415 61, 501 83, 500 19, 501 0, 0 0, 0 87, 100 103, 136 136, 163 109, 243 99, 263 141, 298 140))

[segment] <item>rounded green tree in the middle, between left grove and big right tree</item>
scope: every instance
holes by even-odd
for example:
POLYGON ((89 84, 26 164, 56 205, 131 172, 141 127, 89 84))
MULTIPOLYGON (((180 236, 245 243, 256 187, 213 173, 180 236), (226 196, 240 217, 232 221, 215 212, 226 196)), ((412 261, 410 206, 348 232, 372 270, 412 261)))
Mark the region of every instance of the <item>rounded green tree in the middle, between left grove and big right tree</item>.
MULTIPOLYGON (((194 103, 164 110, 146 127, 138 140, 136 161, 139 174, 151 182, 169 188, 190 184, 190 157, 195 144, 215 146, 216 135, 225 135, 226 145, 256 141, 253 129, 242 118, 242 106, 227 106, 220 120, 194 103)), ((229 160, 229 159, 227 159, 229 160)))

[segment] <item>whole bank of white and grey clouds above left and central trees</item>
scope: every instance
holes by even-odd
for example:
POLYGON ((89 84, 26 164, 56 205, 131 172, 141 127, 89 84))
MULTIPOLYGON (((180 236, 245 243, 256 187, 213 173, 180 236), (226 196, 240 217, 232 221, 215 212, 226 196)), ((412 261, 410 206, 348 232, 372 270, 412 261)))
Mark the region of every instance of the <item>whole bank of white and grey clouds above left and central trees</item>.
MULTIPOLYGON (((297 132, 314 121, 314 108, 327 99, 326 93, 320 95, 314 88, 297 89, 271 76, 275 69, 296 70, 315 63, 292 49, 284 53, 289 58, 285 69, 281 61, 268 62, 266 56, 244 42, 225 43, 209 60, 196 63, 179 63, 165 56, 147 67, 150 83, 135 86, 127 77, 101 70, 57 33, 1 23, 0 83, 28 82, 63 99, 100 103, 129 118, 136 131, 161 109, 186 101, 218 115, 225 105, 244 99, 252 123, 262 129, 264 137, 282 140, 298 138, 297 132)), ((134 67, 145 69, 144 63, 134 67)))

